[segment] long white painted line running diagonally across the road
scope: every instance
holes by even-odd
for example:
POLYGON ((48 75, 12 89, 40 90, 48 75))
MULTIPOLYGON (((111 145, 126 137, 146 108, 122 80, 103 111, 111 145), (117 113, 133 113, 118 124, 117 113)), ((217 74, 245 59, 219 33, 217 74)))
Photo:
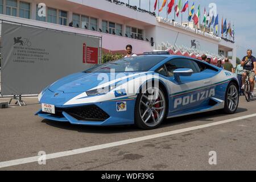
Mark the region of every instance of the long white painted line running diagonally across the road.
MULTIPOLYGON (((149 140, 149 139, 154 139, 154 138, 159 138, 159 137, 166 137, 166 136, 169 136, 169 135, 184 133, 184 132, 192 131, 192 130, 203 129, 203 128, 210 127, 210 126, 222 125, 224 123, 229 123, 229 122, 238 121, 238 120, 241 120, 241 119, 246 119, 246 118, 251 118, 251 117, 256 117, 256 114, 244 115, 242 117, 226 119, 224 121, 218 121, 218 122, 208 123, 208 124, 205 124, 205 125, 188 127, 188 128, 180 129, 180 130, 167 131, 167 132, 164 132, 164 133, 159 133, 159 134, 154 134, 154 135, 147 135, 147 136, 144 136, 144 137, 121 140, 121 141, 118 141, 118 142, 105 143, 105 144, 100 144, 100 145, 97 145, 97 146, 90 146, 90 147, 78 148, 78 149, 75 149, 75 150, 56 152, 56 153, 52 153, 52 154, 47 154, 46 155, 46 160, 61 158, 61 157, 70 156, 70 155, 83 154, 83 153, 86 153, 86 152, 101 150, 101 149, 104 149, 104 148, 110 148, 110 147, 121 146, 121 145, 124 145, 124 144, 141 142, 143 140, 149 140)), ((17 166, 19 164, 38 162, 40 157, 42 157, 42 156, 33 156, 33 157, 30 157, 30 158, 22 158, 22 159, 0 162, 0 168, 10 167, 10 166, 17 166)))

